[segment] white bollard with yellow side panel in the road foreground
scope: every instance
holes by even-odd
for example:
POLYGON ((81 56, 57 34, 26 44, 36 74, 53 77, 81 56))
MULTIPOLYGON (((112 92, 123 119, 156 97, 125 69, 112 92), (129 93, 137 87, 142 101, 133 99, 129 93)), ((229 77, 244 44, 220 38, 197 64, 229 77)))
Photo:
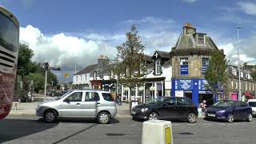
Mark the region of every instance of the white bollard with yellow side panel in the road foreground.
POLYGON ((171 122, 162 120, 143 122, 142 144, 173 144, 171 122))

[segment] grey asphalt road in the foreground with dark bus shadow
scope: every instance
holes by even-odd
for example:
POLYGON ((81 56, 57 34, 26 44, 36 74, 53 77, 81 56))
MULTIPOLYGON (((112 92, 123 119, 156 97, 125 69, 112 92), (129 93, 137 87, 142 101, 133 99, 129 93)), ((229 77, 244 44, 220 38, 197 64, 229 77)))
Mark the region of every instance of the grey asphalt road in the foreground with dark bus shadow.
MULTIPOLYGON (((172 122, 172 126, 174 144, 256 143, 256 118, 234 123, 198 118, 194 124, 172 122)), ((0 121, 0 143, 140 144, 141 136, 142 122, 130 118, 117 118, 109 125, 74 118, 44 123, 34 116, 10 116, 0 121)))

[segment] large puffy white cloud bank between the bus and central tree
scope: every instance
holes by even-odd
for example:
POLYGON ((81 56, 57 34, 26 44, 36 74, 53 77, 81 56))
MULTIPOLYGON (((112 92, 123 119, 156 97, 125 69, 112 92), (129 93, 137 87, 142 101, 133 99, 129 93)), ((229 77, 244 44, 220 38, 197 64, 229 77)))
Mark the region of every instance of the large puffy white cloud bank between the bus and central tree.
POLYGON ((78 70, 97 63, 98 55, 113 58, 114 46, 103 41, 86 40, 63 33, 45 36, 34 26, 21 27, 20 40, 34 50, 34 61, 50 62, 50 66, 60 66, 66 71, 78 70), (77 58, 74 58, 77 57, 77 58))

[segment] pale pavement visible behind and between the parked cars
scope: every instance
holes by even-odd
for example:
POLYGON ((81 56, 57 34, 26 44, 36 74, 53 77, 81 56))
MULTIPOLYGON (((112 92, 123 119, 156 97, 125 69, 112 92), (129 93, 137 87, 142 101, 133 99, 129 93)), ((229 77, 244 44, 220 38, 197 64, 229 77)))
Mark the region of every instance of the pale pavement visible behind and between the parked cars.
MULTIPOLYGON (((55 99, 57 97, 47 96, 46 99, 55 99)), ((39 102, 42 102, 44 99, 43 96, 35 96, 35 102, 20 102, 17 104, 17 110, 15 110, 15 105, 13 104, 12 109, 10 110, 9 115, 35 115, 35 108, 38 106, 39 102)), ((121 106, 117 105, 117 118, 131 118, 129 113, 129 103, 122 102, 121 106)), ((198 116, 198 118, 204 118, 204 116, 198 116)))

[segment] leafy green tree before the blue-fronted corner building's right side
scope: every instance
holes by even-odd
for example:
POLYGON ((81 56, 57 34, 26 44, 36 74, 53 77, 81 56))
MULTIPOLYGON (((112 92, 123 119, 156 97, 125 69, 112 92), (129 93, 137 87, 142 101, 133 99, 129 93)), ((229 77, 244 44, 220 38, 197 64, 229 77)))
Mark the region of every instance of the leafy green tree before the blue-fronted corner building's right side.
POLYGON ((214 50, 205 75, 208 82, 207 87, 214 92, 214 95, 218 95, 218 91, 226 86, 226 68, 225 55, 219 50, 214 50))

